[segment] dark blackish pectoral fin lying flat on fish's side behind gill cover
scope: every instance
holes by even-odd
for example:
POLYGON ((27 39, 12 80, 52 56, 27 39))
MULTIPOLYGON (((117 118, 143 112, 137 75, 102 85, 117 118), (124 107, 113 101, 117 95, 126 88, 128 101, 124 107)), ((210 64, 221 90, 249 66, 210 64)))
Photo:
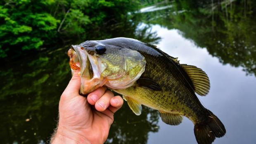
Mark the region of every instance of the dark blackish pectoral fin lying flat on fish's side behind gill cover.
POLYGON ((153 80, 150 80, 148 78, 139 78, 137 80, 137 85, 139 87, 143 87, 145 89, 150 89, 153 91, 161 91, 162 90, 160 85, 158 85, 156 82, 154 82, 153 80))

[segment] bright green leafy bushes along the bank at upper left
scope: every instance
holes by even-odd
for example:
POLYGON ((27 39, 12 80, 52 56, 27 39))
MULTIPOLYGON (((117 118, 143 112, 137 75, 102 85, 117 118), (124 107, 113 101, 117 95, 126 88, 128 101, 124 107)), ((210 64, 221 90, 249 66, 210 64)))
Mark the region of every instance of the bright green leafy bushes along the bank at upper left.
POLYGON ((138 0, 1 1, 0 58, 11 55, 14 49, 38 50, 54 47, 59 40, 84 40, 109 20, 121 21, 138 4, 138 0))

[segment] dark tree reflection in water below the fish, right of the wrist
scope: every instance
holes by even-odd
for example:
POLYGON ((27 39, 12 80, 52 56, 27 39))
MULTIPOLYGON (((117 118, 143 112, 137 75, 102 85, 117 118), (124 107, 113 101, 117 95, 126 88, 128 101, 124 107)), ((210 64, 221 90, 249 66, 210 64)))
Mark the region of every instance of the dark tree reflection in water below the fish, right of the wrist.
POLYGON ((158 131, 159 114, 148 107, 142 109, 135 116, 125 103, 115 116, 106 144, 146 144, 148 133, 158 131))

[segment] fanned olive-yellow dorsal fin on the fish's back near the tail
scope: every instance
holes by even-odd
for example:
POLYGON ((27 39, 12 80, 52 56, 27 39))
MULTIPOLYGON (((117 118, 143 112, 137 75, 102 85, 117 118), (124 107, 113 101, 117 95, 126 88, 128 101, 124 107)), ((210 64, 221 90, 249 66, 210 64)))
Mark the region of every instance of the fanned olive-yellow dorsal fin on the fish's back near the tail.
POLYGON ((196 66, 190 66, 187 64, 180 64, 180 66, 190 77, 194 85, 194 91, 200 96, 206 96, 210 90, 210 80, 207 74, 196 66))

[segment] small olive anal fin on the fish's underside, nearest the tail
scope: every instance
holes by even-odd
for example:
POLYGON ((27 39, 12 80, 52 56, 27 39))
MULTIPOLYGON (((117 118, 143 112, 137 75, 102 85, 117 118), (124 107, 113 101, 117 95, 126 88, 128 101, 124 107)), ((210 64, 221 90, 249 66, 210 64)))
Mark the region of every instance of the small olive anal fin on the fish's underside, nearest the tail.
POLYGON ((170 114, 167 112, 160 112, 160 111, 159 111, 159 114, 162 121, 164 121, 166 124, 169 124, 169 125, 179 125, 183 120, 183 117, 180 114, 170 114))

